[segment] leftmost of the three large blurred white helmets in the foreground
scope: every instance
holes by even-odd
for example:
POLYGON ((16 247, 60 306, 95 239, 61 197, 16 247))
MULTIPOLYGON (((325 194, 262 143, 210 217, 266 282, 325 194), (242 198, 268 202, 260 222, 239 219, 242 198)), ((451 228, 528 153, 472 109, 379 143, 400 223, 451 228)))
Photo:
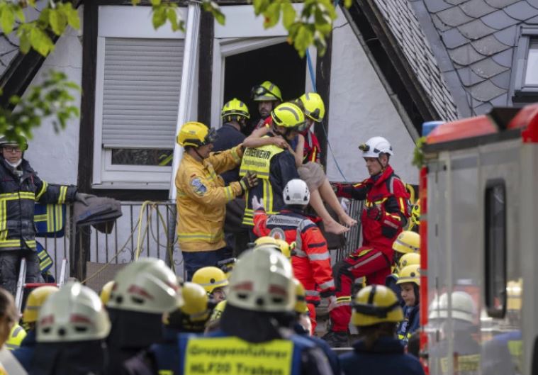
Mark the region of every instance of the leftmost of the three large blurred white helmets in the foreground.
POLYGON ((69 282, 43 303, 38 342, 101 340, 111 329, 101 299, 87 286, 69 282))

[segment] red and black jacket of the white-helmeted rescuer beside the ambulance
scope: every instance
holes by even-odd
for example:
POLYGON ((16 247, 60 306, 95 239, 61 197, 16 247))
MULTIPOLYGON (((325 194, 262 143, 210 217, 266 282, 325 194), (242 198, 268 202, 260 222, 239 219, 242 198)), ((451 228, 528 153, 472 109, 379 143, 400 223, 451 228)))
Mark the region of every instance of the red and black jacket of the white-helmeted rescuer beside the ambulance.
POLYGON ((362 246, 381 250, 389 262, 393 259, 392 243, 408 222, 409 193, 405 184, 388 165, 381 175, 359 184, 336 184, 337 196, 364 200, 361 216, 362 246), (367 210, 377 206, 380 220, 369 218, 367 210))

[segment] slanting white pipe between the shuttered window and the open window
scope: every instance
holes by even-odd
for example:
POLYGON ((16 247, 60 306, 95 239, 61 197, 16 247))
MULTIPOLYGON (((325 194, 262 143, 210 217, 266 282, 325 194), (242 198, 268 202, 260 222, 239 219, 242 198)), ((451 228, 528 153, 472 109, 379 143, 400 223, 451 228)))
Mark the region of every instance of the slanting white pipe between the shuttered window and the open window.
MULTIPOLYGON (((181 72, 181 91, 179 94, 179 110, 177 112, 176 135, 181 125, 193 120, 191 116, 191 98, 193 96, 194 79, 196 79, 196 62, 198 57, 198 37, 200 35, 200 6, 189 4, 187 10, 185 50, 183 71, 181 72)), ((183 156, 183 147, 174 143, 174 159, 172 160, 172 180, 170 181, 170 200, 176 199, 176 172, 183 156)))

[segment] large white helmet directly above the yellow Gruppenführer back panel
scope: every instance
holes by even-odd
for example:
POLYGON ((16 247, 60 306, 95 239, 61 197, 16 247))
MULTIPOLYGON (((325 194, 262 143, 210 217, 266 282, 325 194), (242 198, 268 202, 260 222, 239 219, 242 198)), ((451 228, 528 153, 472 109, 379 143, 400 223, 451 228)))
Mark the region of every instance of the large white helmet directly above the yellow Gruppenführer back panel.
POLYGON ((245 310, 293 311, 296 296, 291 263, 267 247, 243 252, 230 276, 227 301, 245 310))

